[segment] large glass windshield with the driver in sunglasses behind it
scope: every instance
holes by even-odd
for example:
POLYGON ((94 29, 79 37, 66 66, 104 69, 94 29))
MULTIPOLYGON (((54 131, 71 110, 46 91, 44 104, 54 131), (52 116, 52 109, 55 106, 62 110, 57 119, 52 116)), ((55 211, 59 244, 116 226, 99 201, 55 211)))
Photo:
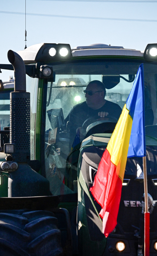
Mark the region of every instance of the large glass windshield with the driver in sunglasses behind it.
MULTIPOLYGON (((76 192, 82 140, 94 133, 113 132, 143 62, 96 59, 53 65, 55 82, 48 82, 47 87, 44 149, 46 177, 52 195, 76 192), (94 84, 90 83, 92 81, 94 84), (71 150, 73 155, 69 154, 71 150), (72 172, 69 172, 69 166, 72 166, 72 172)), ((150 128, 157 124, 155 62, 144 63, 144 92, 145 124, 150 128)))

